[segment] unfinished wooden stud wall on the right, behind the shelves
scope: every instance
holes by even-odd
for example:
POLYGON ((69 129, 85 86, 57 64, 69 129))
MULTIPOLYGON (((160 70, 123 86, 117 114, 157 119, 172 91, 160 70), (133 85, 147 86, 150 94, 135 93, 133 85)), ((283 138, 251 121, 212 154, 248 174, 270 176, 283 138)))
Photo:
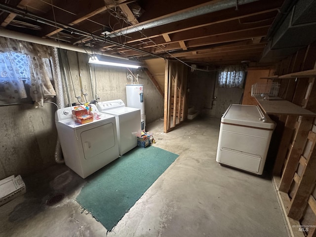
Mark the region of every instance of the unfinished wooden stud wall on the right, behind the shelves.
MULTIPOLYGON (((315 113, 315 72, 313 43, 276 66, 279 97, 315 113)), ((290 231, 292 236, 316 237, 316 119, 283 115, 278 125, 283 130, 273 173, 290 231)))

